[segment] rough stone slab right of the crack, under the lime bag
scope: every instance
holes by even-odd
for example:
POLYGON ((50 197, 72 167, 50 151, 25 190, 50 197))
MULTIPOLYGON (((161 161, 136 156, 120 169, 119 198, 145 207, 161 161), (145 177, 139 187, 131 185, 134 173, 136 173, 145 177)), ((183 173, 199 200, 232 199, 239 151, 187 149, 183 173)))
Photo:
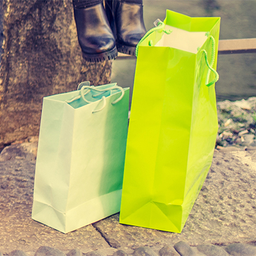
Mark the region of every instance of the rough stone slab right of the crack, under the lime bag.
POLYGON ((118 214, 95 223, 113 247, 256 241, 256 151, 216 150, 211 170, 181 234, 120 225, 118 214))

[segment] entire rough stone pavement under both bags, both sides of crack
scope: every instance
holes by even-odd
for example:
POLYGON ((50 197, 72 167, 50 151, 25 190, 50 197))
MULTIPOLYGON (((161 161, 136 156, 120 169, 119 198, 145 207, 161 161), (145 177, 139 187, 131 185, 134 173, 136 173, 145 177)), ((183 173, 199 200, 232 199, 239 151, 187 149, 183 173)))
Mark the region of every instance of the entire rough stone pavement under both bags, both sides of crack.
POLYGON ((209 175, 181 234, 120 225, 118 214, 62 234, 31 220, 35 174, 32 149, 12 145, 0 154, 3 254, 19 249, 35 255, 40 246, 51 246, 65 253, 78 248, 83 253, 97 250, 113 255, 120 248, 132 253, 140 246, 151 246, 157 252, 179 241, 191 246, 256 241, 256 151, 216 150, 209 175))

